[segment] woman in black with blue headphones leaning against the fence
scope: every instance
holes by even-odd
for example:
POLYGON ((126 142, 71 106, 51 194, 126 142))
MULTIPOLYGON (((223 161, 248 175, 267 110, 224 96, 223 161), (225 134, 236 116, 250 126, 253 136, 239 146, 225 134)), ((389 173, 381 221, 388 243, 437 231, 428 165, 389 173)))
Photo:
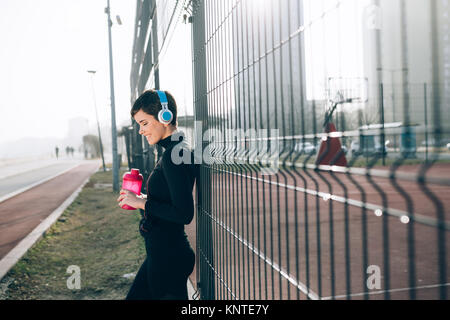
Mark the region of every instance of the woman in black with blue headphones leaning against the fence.
POLYGON ((184 225, 192 221, 192 190, 196 178, 193 153, 177 131, 177 106, 168 92, 147 91, 134 103, 131 116, 139 134, 164 148, 147 180, 147 196, 121 190, 119 206, 144 210, 139 230, 147 258, 139 269, 127 300, 187 300, 187 279, 195 255, 184 225), (192 161, 180 161, 187 159, 192 161))

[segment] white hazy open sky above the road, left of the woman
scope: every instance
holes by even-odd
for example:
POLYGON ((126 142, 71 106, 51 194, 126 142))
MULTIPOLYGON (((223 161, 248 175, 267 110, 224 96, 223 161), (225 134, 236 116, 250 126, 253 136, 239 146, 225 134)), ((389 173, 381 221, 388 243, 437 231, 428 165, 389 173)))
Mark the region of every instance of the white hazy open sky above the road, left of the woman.
MULTIPOLYGON (((100 125, 111 124, 106 0, 0 0, 0 143, 64 138, 68 120, 95 123, 87 70, 97 70, 100 125)), ((136 1, 111 0, 116 123, 130 119, 136 1), (120 15, 122 25, 116 23, 120 15)))

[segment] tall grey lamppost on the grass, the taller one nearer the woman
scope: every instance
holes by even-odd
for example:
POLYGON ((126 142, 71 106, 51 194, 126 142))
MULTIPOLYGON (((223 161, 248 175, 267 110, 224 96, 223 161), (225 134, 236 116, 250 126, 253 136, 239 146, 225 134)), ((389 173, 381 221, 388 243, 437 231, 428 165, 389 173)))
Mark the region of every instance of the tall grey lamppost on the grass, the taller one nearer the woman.
POLYGON ((111 86, 111 133, 112 133, 112 156, 113 156, 113 191, 119 192, 119 164, 117 163, 117 129, 116 129, 116 103, 114 99, 114 71, 112 59, 112 39, 111 39, 111 16, 109 0, 107 0, 108 7, 105 13, 108 15, 108 40, 109 40, 109 78, 111 86))

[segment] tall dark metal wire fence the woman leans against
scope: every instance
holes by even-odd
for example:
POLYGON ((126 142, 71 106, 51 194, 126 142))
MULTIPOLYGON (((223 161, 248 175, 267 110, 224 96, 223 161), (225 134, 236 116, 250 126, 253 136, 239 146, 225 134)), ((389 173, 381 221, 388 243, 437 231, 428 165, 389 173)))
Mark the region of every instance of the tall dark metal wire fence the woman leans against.
POLYGON ((448 298, 447 0, 140 6, 135 98, 180 8, 192 25, 201 299, 448 298))

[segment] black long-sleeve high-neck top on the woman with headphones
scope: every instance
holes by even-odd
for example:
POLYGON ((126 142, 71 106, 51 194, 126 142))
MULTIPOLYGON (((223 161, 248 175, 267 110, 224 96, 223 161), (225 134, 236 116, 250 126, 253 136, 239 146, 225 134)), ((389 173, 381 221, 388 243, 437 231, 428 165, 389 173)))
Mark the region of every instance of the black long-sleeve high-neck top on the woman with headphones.
POLYGON ((164 153, 147 180, 147 202, 140 232, 144 237, 164 233, 185 236, 184 225, 194 216, 192 191, 197 166, 193 152, 183 132, 172 134, 158 145, 164 148, 164 153))

